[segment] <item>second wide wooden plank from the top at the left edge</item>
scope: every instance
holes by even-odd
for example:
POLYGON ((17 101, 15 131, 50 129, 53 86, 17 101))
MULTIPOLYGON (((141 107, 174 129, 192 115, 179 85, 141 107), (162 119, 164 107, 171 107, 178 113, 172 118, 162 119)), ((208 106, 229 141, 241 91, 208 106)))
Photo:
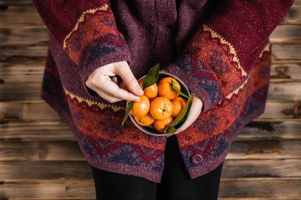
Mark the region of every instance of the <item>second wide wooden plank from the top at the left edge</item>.
POLYGON ((1 45, 31 45, 48 42, 46 26, 0 27, 1 45))

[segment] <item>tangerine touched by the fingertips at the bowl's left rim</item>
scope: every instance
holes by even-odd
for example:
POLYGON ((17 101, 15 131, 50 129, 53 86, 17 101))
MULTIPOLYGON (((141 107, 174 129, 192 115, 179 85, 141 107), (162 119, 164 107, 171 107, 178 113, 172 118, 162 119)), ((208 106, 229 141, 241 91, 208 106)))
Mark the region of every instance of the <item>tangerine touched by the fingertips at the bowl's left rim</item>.
MULTIPOLYGON (((129 101, 126 101, 126 105, 129 101)), ((140 96, 140 101, 134 101, 133 107, 129 113, 133 116, 144 116, 149 111, 150 102, 144 95, 140 96)))

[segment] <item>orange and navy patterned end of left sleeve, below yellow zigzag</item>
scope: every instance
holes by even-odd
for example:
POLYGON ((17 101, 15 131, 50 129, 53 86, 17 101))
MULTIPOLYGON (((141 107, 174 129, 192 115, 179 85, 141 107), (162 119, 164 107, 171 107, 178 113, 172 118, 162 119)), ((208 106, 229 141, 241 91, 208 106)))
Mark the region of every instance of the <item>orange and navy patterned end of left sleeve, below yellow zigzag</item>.
MULTIPOLYGON (((101 7, 108 9, 107 6, 101 7)), ((118 61, 130 63, 130 52, 123 35, 117 30, 113 13, 102 9, 86 13, 65 37, 64 50, 78 65, 82 84, 89 96, 97 93, 85 81, 97 68, 118 61)))

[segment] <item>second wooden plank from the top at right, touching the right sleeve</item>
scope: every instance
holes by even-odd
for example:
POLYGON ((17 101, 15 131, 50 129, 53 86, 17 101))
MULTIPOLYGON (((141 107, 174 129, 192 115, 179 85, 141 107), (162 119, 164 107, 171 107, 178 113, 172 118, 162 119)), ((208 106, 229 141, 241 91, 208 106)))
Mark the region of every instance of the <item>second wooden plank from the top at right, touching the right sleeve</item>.
POLYGON ((270 35, 270 42, 295 42, 301 39, 300 25, 278 25, 270 35))

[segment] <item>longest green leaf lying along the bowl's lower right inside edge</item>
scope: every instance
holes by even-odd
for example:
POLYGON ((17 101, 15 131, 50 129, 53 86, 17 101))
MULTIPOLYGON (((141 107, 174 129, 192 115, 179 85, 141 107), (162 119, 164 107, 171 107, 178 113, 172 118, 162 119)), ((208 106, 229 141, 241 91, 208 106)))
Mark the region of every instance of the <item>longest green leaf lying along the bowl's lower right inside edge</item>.
POLYGON ((165 132, 174 131, 176 129, 174 126, 184 122, 187 119, 191 105, 192 105, 193 97, 194 97, 194 94, 192 94, 188 98, 187 102, 185 103, 185 105, 184 105, 183 109, 181 110, 181 112, 179 113, 179 115, 173 120, 173 122, 167 128, 165 128, 165 132))

